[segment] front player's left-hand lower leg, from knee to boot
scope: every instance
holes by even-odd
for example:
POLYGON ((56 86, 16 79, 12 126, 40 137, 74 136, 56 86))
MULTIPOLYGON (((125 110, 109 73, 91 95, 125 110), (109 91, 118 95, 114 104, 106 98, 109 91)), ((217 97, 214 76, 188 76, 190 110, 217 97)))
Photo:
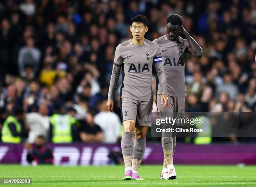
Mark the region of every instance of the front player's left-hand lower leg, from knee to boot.
POLYGON ((126 120, 123 122, 123 137, 121 147, 123 152, 123 160, 125 164, 125 175, 123 180, 133 180, 132 157, 133 157, 133 137, 134 137, 134 120, 126 120))

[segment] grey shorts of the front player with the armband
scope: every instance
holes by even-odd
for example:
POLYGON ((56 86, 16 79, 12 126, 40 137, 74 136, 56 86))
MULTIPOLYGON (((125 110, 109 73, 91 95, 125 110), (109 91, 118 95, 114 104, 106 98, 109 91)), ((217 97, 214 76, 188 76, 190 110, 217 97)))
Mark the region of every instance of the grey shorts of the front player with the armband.
POLYGON ((151 127, 153 102, 137 101, 131 98, 120 98, 122 120, 134 120, 136 125, 151 127))

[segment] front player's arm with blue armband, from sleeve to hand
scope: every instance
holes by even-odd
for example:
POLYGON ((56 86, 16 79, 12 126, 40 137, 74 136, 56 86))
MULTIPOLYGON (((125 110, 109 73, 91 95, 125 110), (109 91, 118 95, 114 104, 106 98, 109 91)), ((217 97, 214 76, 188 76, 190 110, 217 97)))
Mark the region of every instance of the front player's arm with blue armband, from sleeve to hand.
POLYGON ((159 83, 162 88, 162 96, 161 96, 161 104, 163 104, 164 101, 164 107, 168 106, 169 100, 167 97, 167 82, 166 82, 166 75, 164 71, 164 63, 162 61, 162 55, 161 55, 161 50, 158 48, 157 55, 154 57, 154 65, 156 67, 156 73, 157 77, 159 79, 159 83))

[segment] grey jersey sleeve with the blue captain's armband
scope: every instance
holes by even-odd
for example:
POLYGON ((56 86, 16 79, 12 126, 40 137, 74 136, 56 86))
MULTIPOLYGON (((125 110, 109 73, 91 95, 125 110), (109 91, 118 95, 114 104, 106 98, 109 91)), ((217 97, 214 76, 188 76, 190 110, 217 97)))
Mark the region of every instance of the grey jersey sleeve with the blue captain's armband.
POLYGON ((154 65, 156 67, 156 73, 157 73, 157 77, 159 79, 159 83, 161 85, 162 88, 162 94, 167 95, 167 82, 166 82, 166 75, 165 75, 165 71, 164 71, 164 63, 162 60, 162 54, 161 54, 161 50, 160 47, 158 47, 156 56, 154 57, 154 65))

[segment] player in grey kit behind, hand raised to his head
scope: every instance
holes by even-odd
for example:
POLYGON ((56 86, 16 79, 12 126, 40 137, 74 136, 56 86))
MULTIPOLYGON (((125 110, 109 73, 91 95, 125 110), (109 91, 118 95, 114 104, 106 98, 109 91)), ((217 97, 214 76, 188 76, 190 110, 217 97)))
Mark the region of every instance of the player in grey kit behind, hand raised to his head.
MULTIPOLYGON (((169 105, 162 109, 159 102, 163 90, 159 85, 159 80, 156 80, 156 105, 158 112, 161 113, 184 112, 186 96, 184 65, 186 54, 189 53, 196 58, 202 57, 202 48, 189 35, 182 24, 183 19, 180 15, 170 15, 167 17, 167 34, 154 40, 161 48, 169 97, 169 105), (181 34, 186 39, 180 37, 181 34)), ((167 134, 162 134, 164 163, 160 179, 174 180, 176 179, 176 172, 173 165, 173 154, 176 146, 176 137, 174 134, 172 134, 172 137, 167 134)))

